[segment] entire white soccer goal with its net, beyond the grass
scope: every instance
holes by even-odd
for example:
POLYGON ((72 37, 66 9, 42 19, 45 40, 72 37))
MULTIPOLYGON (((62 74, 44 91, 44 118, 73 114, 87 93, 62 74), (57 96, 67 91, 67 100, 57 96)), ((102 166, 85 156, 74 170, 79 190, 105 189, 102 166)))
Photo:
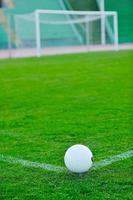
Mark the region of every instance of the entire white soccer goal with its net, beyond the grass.
POLYGON ((21 47, 35 48, 37 56, 48 49, 118 50, 116 12, 36 10, 15 15, 15 29, 21 47))

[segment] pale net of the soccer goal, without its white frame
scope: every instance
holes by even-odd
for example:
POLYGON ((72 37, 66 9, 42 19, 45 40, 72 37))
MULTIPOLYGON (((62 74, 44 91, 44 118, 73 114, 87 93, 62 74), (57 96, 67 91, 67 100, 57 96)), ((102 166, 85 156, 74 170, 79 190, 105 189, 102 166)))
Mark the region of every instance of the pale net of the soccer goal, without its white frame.
MULTIPOLYGON (((39 14, 41 48, 101 44, 101 14, 39 14)), ((35 13, 15 15, 16 48, 36 48, 35 13)), ((105 15, 105 41, 114 43, 113 16, 105 15)))

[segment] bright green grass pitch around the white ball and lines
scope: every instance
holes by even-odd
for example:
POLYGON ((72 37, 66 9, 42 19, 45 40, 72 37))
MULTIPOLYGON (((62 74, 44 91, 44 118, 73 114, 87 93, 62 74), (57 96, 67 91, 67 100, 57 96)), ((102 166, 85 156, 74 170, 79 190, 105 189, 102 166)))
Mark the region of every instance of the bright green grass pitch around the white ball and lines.
MULTIPOLYGON (((0 60, 0 155, 64 166, 132 149, 133 51, 0 60)), ((130 200, 132 158, 83 177, 0 161, 1 200, 130 200)))

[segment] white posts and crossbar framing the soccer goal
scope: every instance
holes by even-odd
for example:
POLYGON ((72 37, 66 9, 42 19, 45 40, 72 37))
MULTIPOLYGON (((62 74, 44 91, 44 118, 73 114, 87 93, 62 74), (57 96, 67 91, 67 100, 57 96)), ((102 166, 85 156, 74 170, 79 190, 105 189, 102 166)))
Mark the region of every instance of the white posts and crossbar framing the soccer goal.
MULTIPOLYGON (((76 28, 74 27, 74 24, 77 23, 85 23, 86 24, 86 34, 89 34, 89 22, 96 21, 97 19, 101 20, 101 41, 104 41, 104 45, 106 44, 106 23, 105 20, 107 17, 112 17, 113 19, 113 30, 114 30, 114 42, 113 46, 115 50, 118 50, 118 18, 117 18, 117 12, 108 12, 108 11, 61 11, 61 10, 36 10, 35 11, 35 24, 36 24, 36 46, 37 46, 37 56, 41 56, 41 16, 46 16, 46 19, 44 17, 44 23, 46 24, 69 24, 73 26, 72 28, 75 29, 75 34, 77 34, 77 37, 80 36, 76 28), (52 21, 50 20, 50 16, 65 16, 65 20, 58 19, 54 21, 52 18, 52 21), (47 16, 49 16, 47 18, 47 16), (66 20, 67 19, 67 20, 66 20), (79 35, 78 35, 79 34, 79 35)), ((56 17, 54 17, 56 18, 56 17)), ((89 37, 86 38, 86 44, 89 45, 89 37)), ((103 43, 101 42, 101 45, 103 43)))

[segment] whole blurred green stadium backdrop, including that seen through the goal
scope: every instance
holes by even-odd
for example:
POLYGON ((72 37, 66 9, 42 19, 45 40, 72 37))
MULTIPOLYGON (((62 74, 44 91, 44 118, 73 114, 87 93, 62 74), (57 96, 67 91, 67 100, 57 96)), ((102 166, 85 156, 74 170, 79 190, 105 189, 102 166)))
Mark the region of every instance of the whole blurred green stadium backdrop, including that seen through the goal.
MULTIPOLYGON (((27 51, 27 55, 31 55, 32 49, 32 54, 36 54, 37 30, 35 11, 37 9, 115 11, 118 14, 119 44, 127 44, 128 47, 133 43, 132 0, 0 0, 1 56, 7 56, 6 52, 8 52, 8 56, 11 56, 11 50, 19 49, 25 51, 30 49, 30 52, 27 51)), ((87 21, 88 27, 83 19, 85 19, 83 15, 79 18, 78 15, 41 14, 39 16, 40 48, 42 50, 44 48, 67 46, 81 46, 83 48, 86 44, 91 46, 114 44, 115 33, 113 16, 105 16, 104 42, 102 42, 101 39, 101 15, 93 15, 93 17, 87 21), (75 22, 75 19, 79 21, 75 22), (87 34, 88 38, 86 37, 87 34)), ((25 55, 24 52, 20 52, 20 54, 25 55)))

